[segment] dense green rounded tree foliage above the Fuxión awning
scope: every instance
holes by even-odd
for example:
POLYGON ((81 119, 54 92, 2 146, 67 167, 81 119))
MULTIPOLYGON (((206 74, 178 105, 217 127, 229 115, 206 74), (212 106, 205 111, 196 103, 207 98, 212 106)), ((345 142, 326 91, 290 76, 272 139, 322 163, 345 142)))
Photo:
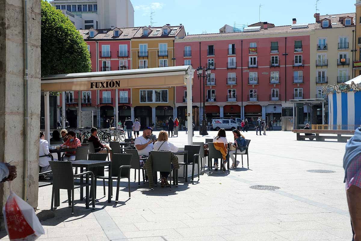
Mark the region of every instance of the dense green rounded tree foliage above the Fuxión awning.
POLYGON ((42 76, 91 72, 90 53, 82 35, 60 10, 41 0, 42 76))

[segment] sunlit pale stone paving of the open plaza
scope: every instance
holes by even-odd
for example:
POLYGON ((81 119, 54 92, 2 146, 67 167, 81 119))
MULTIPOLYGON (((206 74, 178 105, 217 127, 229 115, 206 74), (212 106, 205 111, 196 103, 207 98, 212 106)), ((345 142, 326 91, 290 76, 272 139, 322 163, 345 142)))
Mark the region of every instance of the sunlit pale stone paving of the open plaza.
MULTIPOLYGON (((158 132, 156 132, 157 134, 158 132)), ((195 132, 194 141, 204 141, 195 132)), ((292 132, 268 132, 251 139, 249 170, 231 169, 230 173, 206 171, 199 182, 185 183, 170 191, 149 190, 133 182, 131 199, 127 189, 112 203, 103 194, 98 181, 96 210, 86 209, 76 200, 71 216, 67 193, 61 190, 61 205, 55 218, 43 221, 42 241, 310 241, 352 239, 348 215, 342 158, 345 143, 296 141, 292 132), (334 173, 307 172, 311 169, 334 173), (280 189, 254 190, 252 185, 272 185, 280 189)), ((232 133, 227 131, 232 140, 232 133)), ((187 142, 185 132, 170 138, 177 146, 187 142)), ((240 159, 240 157, 239 157, 240 159)), ((245 162, 247 163, 247 162, 245 162)), ((138 177, 137 177, 138 178, 138 177)), ((197 179, 195 179, 197 180, 197 179)), ((116 182, 114 182, 115 184, 116 182)), ((113 186, 114 186, 113 184, 113 186)), ((127 186, 123 179, 121 186, 127 186)), ((79 199, 79 190, 75 191, 79 199)), ((39 209, 49 209, 51 186, 39 189, 39 209)), ((6 240, 4 233, 0 237, 6 240)))

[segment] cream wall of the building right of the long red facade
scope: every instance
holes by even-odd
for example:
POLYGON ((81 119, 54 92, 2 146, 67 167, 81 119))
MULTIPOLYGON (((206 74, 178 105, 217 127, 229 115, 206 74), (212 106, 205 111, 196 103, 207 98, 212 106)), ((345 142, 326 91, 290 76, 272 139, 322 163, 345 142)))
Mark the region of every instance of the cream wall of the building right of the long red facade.
MULTIPOLYGON (((348 69, 348 75, 352 78, 352 30, 355 27, 342 27, 335 29, 317 29, 314 34, 310 35, 310 98, 316 98, 316 87, 322 85, 333 85, 337 83, 337 76, 339 69, 348 69), (348 37, 348 49, 338 50, 338 43, 340 36, 348 37), (318 51, 317 44, 319 38, 326 38, 327 50, 318 51), (328 66, 317 66, 316 59, 318 54, 326 54, 328 60, 328 66), (347 53, 347 58, 350 59, 350 65, 338 66, 337 59, 339 59, 339 53, 347 53), (328 83, 316 84, 317 70, 326 70, 326 76, 328 77, 328 83)), ((355 38, 355 37, 354 37, 355 38)), ((355 39, 354 39, 355 40, 355 39)))

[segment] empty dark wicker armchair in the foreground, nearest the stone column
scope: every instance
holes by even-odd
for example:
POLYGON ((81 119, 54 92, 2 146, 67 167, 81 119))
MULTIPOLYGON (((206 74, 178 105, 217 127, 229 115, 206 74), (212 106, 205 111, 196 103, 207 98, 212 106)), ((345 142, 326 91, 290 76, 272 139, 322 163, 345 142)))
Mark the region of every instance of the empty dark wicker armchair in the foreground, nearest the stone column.
MULTIPOLYGON (((53 211, 54 195, 57 189, 68 190, 68 202, 71 207, 71 215, 74 215, 74 189, 83 188, 84 186, 90 186, 92 192, 92 207, 95 209, 95 195, 94 195, 94 174, 91 171, 83 172, 79 174, 73 174, 73 166, 71 162, 57 162, 49 161, 51 170, 53 172, 53 189, 51 195, 51 211, 53 211), (81 177, 84 175, 90 175, 91 183, 75 182, 74 177, 81 177), (70 201, 71 199, 71 201, 70 201)), ((89 205, 89 193, 86 192, 86 207, 89 205)))

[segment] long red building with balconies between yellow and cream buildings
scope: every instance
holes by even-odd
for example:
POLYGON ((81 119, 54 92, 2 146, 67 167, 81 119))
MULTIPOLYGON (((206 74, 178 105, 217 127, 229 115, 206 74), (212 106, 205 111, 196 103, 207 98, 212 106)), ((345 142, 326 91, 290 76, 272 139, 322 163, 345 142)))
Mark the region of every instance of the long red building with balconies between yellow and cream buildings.
MULTIPOLYGON (((310 97, 309 28, 262 27, 265 29, 188 35, 175 40, 176 65, 212 69, 205 82, 208 123, 217 117, 240 117, 247 118, 252 125, 261 117, 280 126, 282 109, 291 107, 290 99, 310 97), (287 30, 291 33, 286 33, 287 30)), ((201 118, 203 79, 200 80, 195 73, 193 109, 199 111, 201 118)), ((177 116, 184 119, 186 88, 176 90, 177 116)))

